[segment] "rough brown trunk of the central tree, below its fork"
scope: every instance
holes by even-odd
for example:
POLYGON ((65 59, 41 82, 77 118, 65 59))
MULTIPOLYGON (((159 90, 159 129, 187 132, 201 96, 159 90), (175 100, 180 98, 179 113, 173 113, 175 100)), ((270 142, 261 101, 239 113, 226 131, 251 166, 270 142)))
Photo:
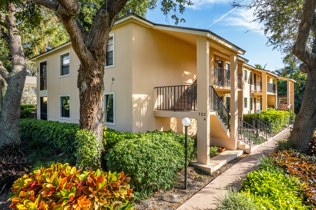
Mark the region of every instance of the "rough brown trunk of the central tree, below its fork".
MULTIPOLYGON (((79 129, 93 131, 102 145, 103 138, 103 75, 104 67, 99 67, 98 61, 81 63, 78 72, 77 86, 79 88, 80 120, 79 129), (91 74, 92 73, 92 74, 91 74)), ((100 164, 100 154, 96 157, 95 164, 100 164)))

